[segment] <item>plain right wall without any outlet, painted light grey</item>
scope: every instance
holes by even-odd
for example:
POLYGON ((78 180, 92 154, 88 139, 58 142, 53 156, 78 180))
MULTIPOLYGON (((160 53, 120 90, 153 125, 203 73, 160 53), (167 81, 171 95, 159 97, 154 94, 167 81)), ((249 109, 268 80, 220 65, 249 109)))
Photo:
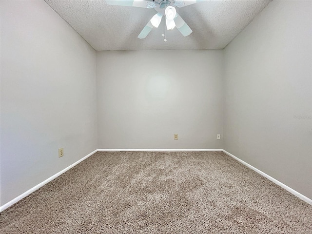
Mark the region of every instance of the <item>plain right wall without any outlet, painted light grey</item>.
POLYGON ((312 198, 312 1, 273 1, 224 50, 224 148, 312 198))

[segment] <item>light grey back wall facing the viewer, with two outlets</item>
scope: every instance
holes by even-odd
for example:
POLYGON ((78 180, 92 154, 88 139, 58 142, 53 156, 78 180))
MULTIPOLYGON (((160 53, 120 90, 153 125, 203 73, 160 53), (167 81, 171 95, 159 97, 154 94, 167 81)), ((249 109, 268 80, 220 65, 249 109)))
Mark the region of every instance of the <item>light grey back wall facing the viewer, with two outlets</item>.
POLYGON ((97 52, 98 147, 219 149, 222 76, 222 50, 97 52))

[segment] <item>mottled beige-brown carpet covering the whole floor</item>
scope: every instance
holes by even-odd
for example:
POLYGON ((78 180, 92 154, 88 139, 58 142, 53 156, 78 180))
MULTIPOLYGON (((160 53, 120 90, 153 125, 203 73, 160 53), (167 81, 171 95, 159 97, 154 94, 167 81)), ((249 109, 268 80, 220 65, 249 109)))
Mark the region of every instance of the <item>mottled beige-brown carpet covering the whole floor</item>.
POLYGON ((222 152, 106 152, 3 211, 0 233, 312 234, 312 206, 222 152))

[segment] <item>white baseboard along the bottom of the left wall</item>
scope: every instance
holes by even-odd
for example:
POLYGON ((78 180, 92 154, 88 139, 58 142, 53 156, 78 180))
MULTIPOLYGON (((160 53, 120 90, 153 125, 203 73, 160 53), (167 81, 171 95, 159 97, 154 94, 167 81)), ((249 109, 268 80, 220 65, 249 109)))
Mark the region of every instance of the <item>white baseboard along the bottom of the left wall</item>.
POLYGON ((60 172, 58 172, 57 174, 47 178, 46 180, 42 181, 41 183, 39 183, 38 185, 36 185, 35 187, 27 190, 25 193, 19 195, 18 197, 14 198, 13 200, 5 203, 3 206, 0 207, 0 212, 4 211, 5 209, 7 209, 8 207, 12 206, 13 204, 17 203, 18 201, 20 201, 21 199, 23 199, 24 197, 30 195, 31 193, 35 192, 36 190, 38 190, 39 188, 41 188, 43 185, 49 183, 50 181, 52 181, 53 179, 55 179, 56 177, 62 175, 64 172, 68 171, 69 169, 73 168, 74 166, 76 166, 78 163, 82 162, 83 160, 85 160, 86 158, 90 157, 91 155, 97 153, 98 150, 95 150, 93 152, 91 152, 90 154, 88 154, 87 156, 84 156, 83 158, 81 158, 80 160, 78 160, 77 162, 74 162, 72 165, 66 167, 65 169, 61 170, 60 172))

